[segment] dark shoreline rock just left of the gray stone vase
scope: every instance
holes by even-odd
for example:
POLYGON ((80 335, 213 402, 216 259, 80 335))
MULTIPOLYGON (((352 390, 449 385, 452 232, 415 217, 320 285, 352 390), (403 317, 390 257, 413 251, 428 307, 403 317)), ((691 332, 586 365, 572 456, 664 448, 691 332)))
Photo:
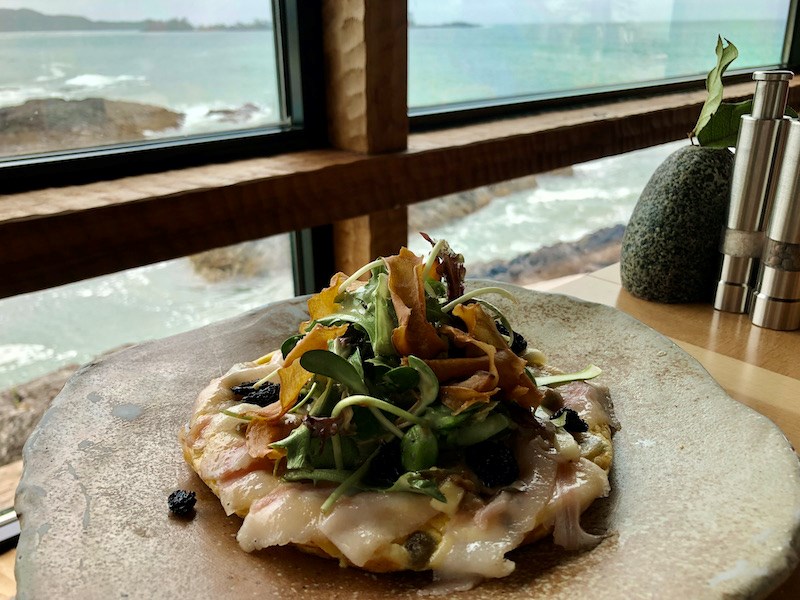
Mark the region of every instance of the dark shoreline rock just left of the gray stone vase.
POLYGON ((589 233, 573 242, 559 242, 513 258, 472 265, 470 277, 527 285, 575 273, 588 273, 619 260, 624 225, 589 233))

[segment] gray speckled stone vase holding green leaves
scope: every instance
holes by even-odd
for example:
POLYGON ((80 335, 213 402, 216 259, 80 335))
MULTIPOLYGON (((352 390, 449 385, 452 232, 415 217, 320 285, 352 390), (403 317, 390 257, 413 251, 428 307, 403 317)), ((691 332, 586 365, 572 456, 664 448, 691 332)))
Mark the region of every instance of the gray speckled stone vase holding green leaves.
POLYGON ((687 145, 656 169, 622 237, 622 285, 655 302, 710 302, 733 154, 687 145))

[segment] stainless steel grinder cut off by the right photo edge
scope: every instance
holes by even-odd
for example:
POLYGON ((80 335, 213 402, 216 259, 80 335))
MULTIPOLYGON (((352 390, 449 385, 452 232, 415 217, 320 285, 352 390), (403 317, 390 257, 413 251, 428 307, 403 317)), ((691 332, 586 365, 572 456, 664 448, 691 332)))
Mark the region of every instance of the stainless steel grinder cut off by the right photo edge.
POLYGON ((792 120, 777 178, 751 319, 769 329, 800 328, 800 121, 792 120))

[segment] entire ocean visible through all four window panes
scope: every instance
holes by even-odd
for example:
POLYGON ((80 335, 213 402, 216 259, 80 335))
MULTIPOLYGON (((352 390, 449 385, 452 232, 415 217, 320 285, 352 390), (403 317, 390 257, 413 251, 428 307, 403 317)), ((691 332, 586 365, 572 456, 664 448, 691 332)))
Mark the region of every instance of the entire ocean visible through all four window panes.
MULTIPOLYGON (((778 62, 780 22, 412 28, 409 104, 706 73, 717 34, 739 47, 735 67, 778 62), (575 49, 584 54, 577 56, 575 49)), ((32 98, 143 102, 186 115, 173 135, 281 119, 268 31, 0 33, 0 56, 0 107, 32 98), (214 112, 244 106, 252 110, 241 111, 234 124, 214 112)), ((510 260, 625 223, 652 172, 684 143, 537 176, 534 189, 495 199, 428 233, 446 238, 469 264, 510 260)), ((288 256, 285 236, 264 244, 288 256)), ((427 245, 412 237, 410 247, 422 252, 427 245)), ((3 299, 0 390, 122 344, 192 329, 291 295, 288 262, 210 282, 188 259, 178 259, 3 299)))

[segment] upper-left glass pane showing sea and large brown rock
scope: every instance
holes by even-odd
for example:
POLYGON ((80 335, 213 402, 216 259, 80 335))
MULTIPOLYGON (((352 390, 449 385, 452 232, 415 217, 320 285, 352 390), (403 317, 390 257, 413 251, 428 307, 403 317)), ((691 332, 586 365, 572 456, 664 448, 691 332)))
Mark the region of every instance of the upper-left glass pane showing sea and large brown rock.
POLYGON ((0 0, 0 56, 0 158, 283 120, 268 0, 0 0))

